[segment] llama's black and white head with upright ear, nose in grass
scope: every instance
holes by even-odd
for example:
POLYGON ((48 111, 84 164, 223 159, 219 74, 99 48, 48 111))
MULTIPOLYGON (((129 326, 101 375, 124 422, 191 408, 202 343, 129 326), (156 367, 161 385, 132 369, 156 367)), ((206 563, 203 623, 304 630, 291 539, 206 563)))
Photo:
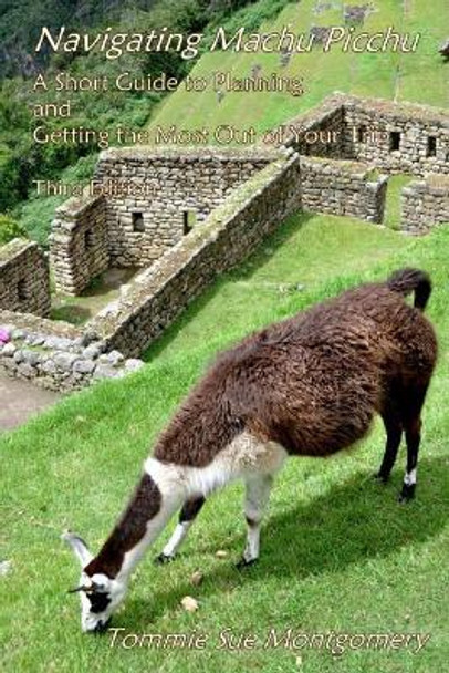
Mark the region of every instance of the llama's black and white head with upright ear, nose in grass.
POLYGON ((62 539, 67 542, 81 563, 80 584, 70 591, 80 593, 81 628, 85 633, 106 631, 113 612, 125 597, 126 584, 102 572, 88 571, 93 555, 77 535, 64 532, 62 539))

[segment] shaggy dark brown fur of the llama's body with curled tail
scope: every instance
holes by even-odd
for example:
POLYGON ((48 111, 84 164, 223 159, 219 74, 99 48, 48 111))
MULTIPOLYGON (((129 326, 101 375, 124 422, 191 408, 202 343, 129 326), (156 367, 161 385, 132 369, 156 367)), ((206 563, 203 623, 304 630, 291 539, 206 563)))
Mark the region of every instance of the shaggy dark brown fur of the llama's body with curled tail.
POLYGON ((202 467, 242 429, 292 455, 326 456, 363 437, 375 412, 406 423, 437 355, 430 322, 404 301, 414 289, 422 309, 429 280, 404 270, 248 336, 190 393, 155 457, 202 467))

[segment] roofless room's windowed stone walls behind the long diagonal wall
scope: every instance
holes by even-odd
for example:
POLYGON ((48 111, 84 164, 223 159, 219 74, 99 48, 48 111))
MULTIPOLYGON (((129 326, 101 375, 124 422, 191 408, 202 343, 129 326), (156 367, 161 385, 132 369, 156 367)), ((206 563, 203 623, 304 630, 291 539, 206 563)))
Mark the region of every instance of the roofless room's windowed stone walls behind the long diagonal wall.
POLYGON ((94 182, 107 196, 72 198, 56 210, 50 236, 56 289, 76 296, 111 266, 149 266, 272 158, 212 148, 103 152, 94 182))

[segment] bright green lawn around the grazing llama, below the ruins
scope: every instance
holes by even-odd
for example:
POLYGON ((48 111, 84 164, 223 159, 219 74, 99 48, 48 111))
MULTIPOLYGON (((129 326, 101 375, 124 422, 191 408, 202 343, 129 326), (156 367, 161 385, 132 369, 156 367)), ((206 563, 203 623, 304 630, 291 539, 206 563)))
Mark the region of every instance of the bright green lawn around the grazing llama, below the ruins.
POLYGON ((147 353, 137 374, 74 394, 0 439, 1 670, 306 671, 431 673, 448 651, 449 228, 410 238, 389 229, 324 216, 291 218, 240 269, 222 276, 147 353), (156 568, 150 550, 115 625, 126 633, 209 636, 205 651, 111 648, 111 638, 82 635, 79 604, 65 590, 79 569, 59 539, 71 527, 94 549, 104 540, 152 444, 217 350, 253 328, 294 313, 361 280, 383 279, 404 265, 435 281, 428 314, 440 358, 425 410, 418 497, 396 501, 404 452, 387 487, 370 475, 382 458, 376 423, 354 451, 334 458, 291 460, 274 488, 260 563, 239 573, 244 539, 242 489, 206 506, 185 551, 156 568), (302 286, 297 289, 297 286, 302 286), (216 558, 224 549, 228 558, 216 558), (205 581, 189 582, 200 568, 205 581), (180 599, 195 596, 188 614, 180 599), (328 633, 430 633, 419 654, 404 650, 327 651, 283 648, 219 651, 233 629, 263 641, 273 627, 328 633), (302 656, 302 663, 296 662, 302 656))

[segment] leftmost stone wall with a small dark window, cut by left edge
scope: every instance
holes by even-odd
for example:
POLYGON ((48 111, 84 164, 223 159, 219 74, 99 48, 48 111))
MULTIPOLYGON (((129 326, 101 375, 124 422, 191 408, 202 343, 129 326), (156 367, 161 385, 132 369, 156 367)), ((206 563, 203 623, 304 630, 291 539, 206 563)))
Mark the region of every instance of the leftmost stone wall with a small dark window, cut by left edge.
POLYGON ((14 239, 0 248, 0 309, 50 314, 49 262, 38 244, 14 239))

